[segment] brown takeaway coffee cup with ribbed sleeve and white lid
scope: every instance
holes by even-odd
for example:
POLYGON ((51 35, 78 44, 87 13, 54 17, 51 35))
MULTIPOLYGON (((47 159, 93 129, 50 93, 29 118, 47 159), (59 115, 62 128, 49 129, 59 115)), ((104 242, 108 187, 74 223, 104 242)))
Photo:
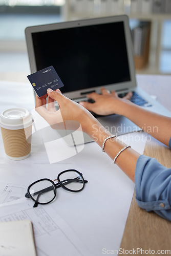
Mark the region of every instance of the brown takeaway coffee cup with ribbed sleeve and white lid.
POLYGON ((4 149, 8 158, 23 160, 30 156, 33 116, 28 110, 5 110, 0 116, 4 149))

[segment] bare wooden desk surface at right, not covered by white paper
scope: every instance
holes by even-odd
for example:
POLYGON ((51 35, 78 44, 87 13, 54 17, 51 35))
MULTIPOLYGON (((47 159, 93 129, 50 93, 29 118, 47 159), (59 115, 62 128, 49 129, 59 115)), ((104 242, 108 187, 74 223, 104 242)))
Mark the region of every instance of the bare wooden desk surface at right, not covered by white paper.
MULTIPOLYGON (((171 111, 171 76, 138 75, 137 81, 138 86, 148 94, 157 96, 157 100, 171 111)), ((155 157, 164 166, 171 167, 171 151, 154 138, 146 143, 144 155, 155 157)), ((120 248, 151 249, 155 250, 155 253, 157 250, 171 250, 171 222, 154 212, 141 209, 136 203, 135 191, 120 248)))

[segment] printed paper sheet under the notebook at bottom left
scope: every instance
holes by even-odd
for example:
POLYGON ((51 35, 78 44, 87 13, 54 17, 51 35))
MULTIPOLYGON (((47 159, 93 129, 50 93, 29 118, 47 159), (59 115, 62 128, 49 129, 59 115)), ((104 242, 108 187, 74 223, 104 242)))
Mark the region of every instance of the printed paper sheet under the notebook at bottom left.
MULTIPOLYGON (((91 255, 87 247, 84 246, 68 224, 62 220, 51 205, 39 205, 38 207, 33 208, 33 201, 23 198, 17 200, 15 203, 0 205, 0 212, 1 222, 18 220, 32 221, 37 256, 91 255)), ((20 241, 20 243, 22 244, 22 241, 20 241)), ((12 256, 14 255, 15 254, 12 256)), ((17 256, 19 255, 20 254, 17 256)), ((30 253, 23 255, 34 254, 30 253)))

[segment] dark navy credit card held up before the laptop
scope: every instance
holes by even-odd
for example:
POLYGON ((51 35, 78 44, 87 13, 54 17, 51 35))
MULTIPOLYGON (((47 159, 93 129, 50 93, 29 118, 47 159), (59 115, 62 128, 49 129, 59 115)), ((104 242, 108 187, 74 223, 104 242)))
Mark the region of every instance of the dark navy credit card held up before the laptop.
POLYGON ((56 89, 63 87, 63 83, 53 66, 39 70, 27 77, 38 97, 47 94, 48 88, 55 91, 56 89))

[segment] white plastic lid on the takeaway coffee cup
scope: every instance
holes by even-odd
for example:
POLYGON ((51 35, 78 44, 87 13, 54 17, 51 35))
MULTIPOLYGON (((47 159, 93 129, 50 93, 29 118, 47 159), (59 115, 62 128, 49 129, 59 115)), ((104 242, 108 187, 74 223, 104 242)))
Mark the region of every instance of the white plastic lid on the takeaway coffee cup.
POLYGON ((23 108, 5 110, 0 116, 0 126, 9 130, 24 129, 32 123, 32 114, 23 108))

